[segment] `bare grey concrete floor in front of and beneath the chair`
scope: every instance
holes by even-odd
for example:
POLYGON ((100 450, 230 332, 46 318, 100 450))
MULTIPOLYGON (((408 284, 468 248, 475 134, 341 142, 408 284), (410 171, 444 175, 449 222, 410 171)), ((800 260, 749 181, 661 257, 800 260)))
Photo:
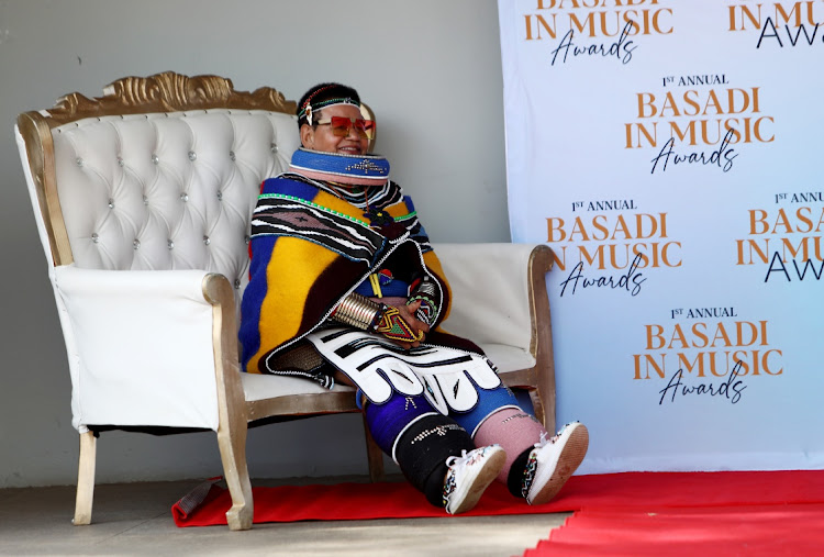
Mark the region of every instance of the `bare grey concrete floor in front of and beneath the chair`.
POLYGON ((569 516, 299 522, 259 524, 247 532, 225 526, 178 528, 169 510, 197 483, 98 486, 89 526, 71 525, 74 487, 0 490, 0 554, 513 556, 535 547, 569 516))

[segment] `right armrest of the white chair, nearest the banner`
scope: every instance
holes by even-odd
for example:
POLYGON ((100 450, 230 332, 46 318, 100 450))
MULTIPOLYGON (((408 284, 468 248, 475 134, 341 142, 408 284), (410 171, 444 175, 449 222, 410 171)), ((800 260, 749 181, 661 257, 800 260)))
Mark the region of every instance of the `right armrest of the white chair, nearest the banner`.
POLYGON ((542 244, 433 247, 452 288, 444 330, 478 344, 515 346, 535 356, 538 320, 549 315, 545 280, 550 249, 542 244))

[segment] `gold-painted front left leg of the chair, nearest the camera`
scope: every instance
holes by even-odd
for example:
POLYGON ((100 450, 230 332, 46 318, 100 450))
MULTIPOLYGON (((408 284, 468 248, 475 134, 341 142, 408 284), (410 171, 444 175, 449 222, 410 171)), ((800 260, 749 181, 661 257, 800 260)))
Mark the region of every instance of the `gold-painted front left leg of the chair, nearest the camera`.
POLYGON ((247 424, 242 416, 232 416, 229 422, 218 428, 223 475, 232 495, 232 508, 226 511, 226 522, 230 530, 249 530, 254 516, 254 502, 249 470, 246 466, 247 424))

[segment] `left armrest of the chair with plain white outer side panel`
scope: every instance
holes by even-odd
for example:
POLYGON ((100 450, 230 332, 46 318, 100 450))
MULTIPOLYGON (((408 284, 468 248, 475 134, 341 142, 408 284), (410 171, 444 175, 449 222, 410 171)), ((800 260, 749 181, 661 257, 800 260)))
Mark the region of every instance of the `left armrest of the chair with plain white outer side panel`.
MULTIPOLYGON (((237 367, 234 299, 227 282, 231 307, 215 312, 221 302, 214 298, 221 297, 214 285, 220 279, 226 281, 202 270, 55 268, 75 427, 218 430, 215 370, 222 371, 232 355, 237 367), (218 323, 215 332, 215 321, 226 314, 226 323, 218 323)), ((240 385, 240 377, 230 380, 240 385)))

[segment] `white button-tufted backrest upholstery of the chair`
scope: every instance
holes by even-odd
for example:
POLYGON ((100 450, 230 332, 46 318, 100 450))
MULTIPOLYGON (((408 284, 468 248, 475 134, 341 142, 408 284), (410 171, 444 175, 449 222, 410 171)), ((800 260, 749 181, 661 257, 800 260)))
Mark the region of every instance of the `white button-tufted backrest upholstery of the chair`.
POLYGON ((108 270, 203 269, 247 282, 260 182, 298 147, 294 118, 207 110, 86 119, 53 131, 75 263, 108 270))

